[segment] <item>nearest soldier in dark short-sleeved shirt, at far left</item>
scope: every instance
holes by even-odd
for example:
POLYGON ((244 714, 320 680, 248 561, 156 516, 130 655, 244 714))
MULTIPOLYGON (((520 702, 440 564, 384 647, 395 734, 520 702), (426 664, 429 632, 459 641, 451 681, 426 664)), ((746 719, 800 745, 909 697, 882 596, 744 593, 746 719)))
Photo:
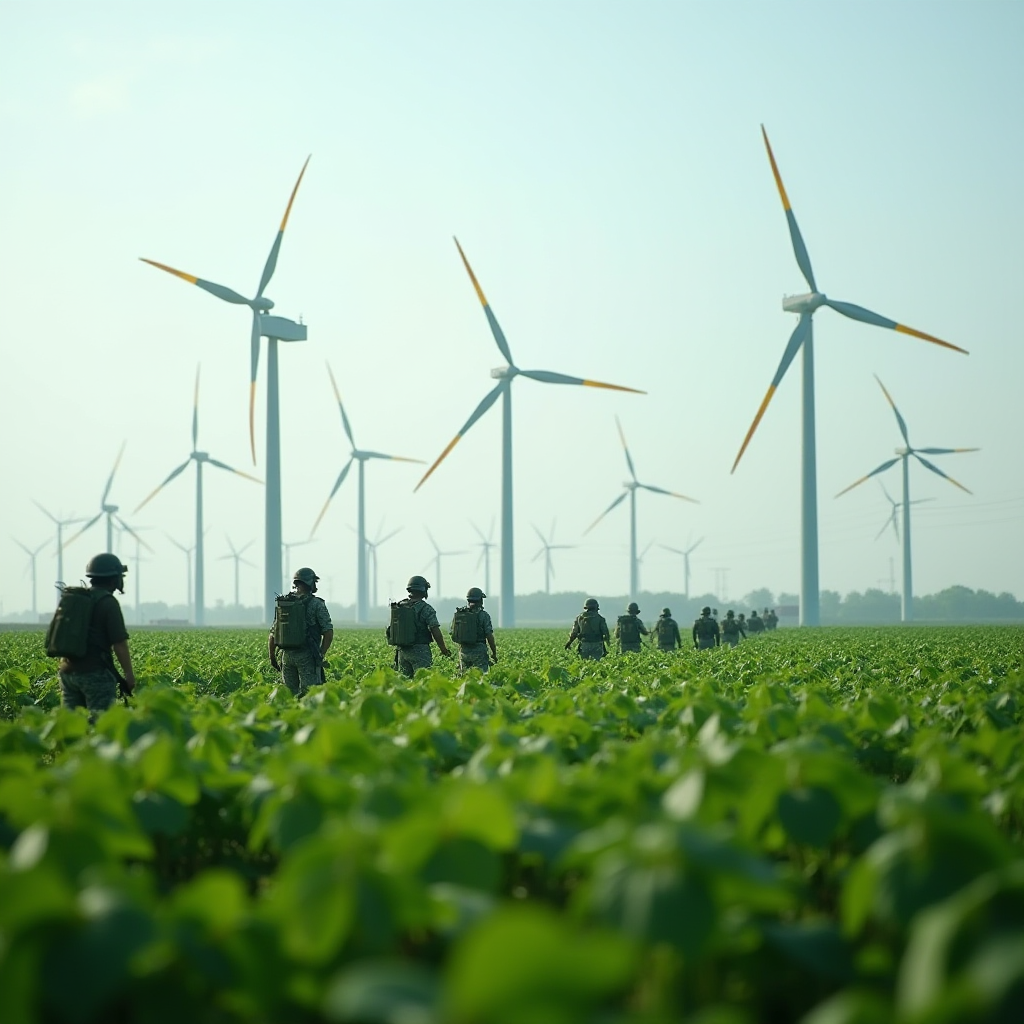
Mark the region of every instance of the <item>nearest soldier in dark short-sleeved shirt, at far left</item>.
POLYGON ((91 721, 117 700, 119 683, 125 694, 135 689, 128 631, 114 596, 116 590, 125 592, 127 571, 128 566, 110 552, 90 558, 85 567, 88 589, 65 589, 46 636, 47 653, 60 657, 57 675, 61 703, 65 708, 88 709, 91 721), (72 639, 76 633, 78 642, 72 639), (124 679, 114 668, 115 655, 124 679))

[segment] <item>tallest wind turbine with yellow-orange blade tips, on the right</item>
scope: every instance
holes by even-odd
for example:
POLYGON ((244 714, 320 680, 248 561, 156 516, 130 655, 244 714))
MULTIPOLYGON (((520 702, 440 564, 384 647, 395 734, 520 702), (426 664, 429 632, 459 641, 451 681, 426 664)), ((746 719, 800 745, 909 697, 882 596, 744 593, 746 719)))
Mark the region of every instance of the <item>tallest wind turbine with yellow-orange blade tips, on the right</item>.
POLYGON ((765 147, 768 151, 768 160, 771 163, 772 174, 775 176, 775 184, 778 187, 778 195, 782 200, 782 209, 785 210, 785 219, 790 224, 790 239, 793 243, 793 252, 797 258, 797 265, 800 267, 804 280, 811 289, 806 295, 791 295, 782 299, 782 309, 786 312, 798 313, 800 319, 790 336, 788 344, 782 352, 782 360, 775 371, 771 384, 768 386, 768 393, 761 402, 757 416, 751 424, 751 429, 746 431, 743 443, 739 446, 739 454, 732 464, 731 472, 736 471, 739 460, 746 451, 746 445, 754 436, 761 417, 764 416, 768 402, 771 401, 782 378, 785 376, 790 364, 796 358, 801 347, 804 350, 804 382, 803 382, 803 412, 802 412, 802 435, 803 435, 803 467, 802 467, 802 497, 801 497, 801 572, 800 572, 800 625, 817 626, 820 621, 820 593, 818 583, 818 498, 817 498, 817 468, 814 440, 814 345, 812 318, 815 310, 821 306, 829 306, 836 312, 849 316, 850 319, 860 321, 862 324, 870 324, 874 327, 889 328, 901 334, 909 334, 914 338, 930 341, 933 344, 941 345, 944 348, 951 348, 955 352, 963 352, 967 355, 967 349, 957 345, 950 345, 948 341, 942 341, 923 331, 916 331, 887 316, 880 316, 878 313, 864 309, 863 306, 856 306, 851 302, 840 302, 837 299, 829 299, 822 292, 818 291, 818 286, 814 281, 814 271, 811 269, 811 259, 807 254, 807 247, 804 245, 803 236, 797 225, 797 218, 790 207, 790 199, 782 186, 782 178, 778 173, 775 164, 775 157, 771 152, 768 142, 768 133, 761 126, 761 134, 764 136, 765 147))

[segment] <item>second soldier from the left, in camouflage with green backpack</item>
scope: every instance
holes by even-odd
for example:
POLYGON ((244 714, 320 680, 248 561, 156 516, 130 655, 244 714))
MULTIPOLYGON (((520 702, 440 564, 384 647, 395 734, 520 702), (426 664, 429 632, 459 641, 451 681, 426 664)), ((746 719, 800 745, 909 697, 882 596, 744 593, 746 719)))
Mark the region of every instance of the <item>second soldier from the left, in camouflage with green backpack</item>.
POLYGON ((325 681, 324 656, 334 641, 331 612, 327 610, 323 598, 315 596, 318 580, 319 577, 307 566, 295 570, 292 593, 286 598, 278 598, 273 629, 267 637, 270 665, 281 673, 285 685, 297 697, 305 696, 310 686, 325 681), (294 610, 289 609, 291 615, 295 615, 295 632, 287 638, 283 632, 285 620, 282 610, 287 607, 284 604, 286 600, 296 603, 294 610))

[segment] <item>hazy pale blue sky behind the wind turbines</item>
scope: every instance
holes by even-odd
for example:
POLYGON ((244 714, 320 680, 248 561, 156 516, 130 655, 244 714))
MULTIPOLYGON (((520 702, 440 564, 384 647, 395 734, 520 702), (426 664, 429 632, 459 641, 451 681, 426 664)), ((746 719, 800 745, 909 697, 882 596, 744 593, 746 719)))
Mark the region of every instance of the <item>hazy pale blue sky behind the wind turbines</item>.
MULTIPOLYGON (((626 506, 581 537, 626 475, 616 414, 641 479, 701 502, 641 495, 641 545, 705 537, 697 591, 716 567, 730 597, 797 590, 799 365, 729 474, 793 330, 781 296, 805 290, 762 122, 819 287, 971 350, 816 315, 822 587, 898 573, 881 489, 833 499, 899 443, 877 373, 914 443, 982 449, 940 462, 973 497, 911 474, 935 499, 915 590, 1024 596, 1021 4, 7 2, 0 38, 4 610, 29 603, 9 538, 50 536, 30 499, 91 513, 125 437, 112 498, 152 527, 143 598, 183 599, 164 531, 191 541, 191 474, 130 511, 187 456, 200 360, 201 446, 252 470, 249 323, 137 257, 253 289, 310 153, 268 289, 310 336, 282 353, 287 540, 347 458, 325 359, 357 442, 428 463, 489 388, 458 234, 519 366, 648 391, 516 382, 517 590, 543 586, 530 523, 557 517, 581 545, 558 589, 625 592, 626 506)), ((425 525, 445 548, 486 528, 499 438, 495 410, 415 497, 415 467, 369 467, 370 523, 404 526, 382 588, 430 567, 425 525)), ((224 534, 261 548, 262 494, 206 480, 212 604, 224 534)), ((337 601, 354 521, 352 477, 302 557, 337 601)), ((97 526, 69 564, 100 547, 97 526)), ((453 559, 444 591, 474 564, 453 559)), ((41 556, 41 604, 54 571, 41 556)), ((649 558, 642 586, 681 587, 679 560, 649 558)))

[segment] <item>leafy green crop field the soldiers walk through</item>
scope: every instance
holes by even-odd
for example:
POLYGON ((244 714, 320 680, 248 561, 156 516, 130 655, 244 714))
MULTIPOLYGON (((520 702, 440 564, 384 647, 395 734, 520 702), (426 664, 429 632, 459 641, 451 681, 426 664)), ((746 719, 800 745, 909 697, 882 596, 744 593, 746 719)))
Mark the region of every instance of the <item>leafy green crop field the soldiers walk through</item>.
POLYGON ((0 634, 0 1021, 1024 1019, 1024 629, 782 631, 404 680, 140 633, 60 710, 0 634))

